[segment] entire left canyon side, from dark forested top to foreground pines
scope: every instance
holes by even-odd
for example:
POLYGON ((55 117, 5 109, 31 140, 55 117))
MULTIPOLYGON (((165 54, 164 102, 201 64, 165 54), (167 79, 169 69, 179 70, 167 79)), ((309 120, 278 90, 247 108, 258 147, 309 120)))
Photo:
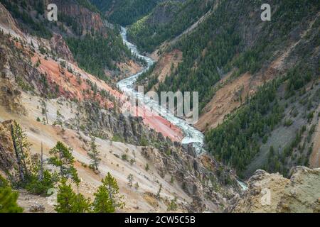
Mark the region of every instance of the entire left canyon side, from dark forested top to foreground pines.
POLYGON ((102 80, 142 70, 117 28, 88 1, 46 22, 45 2, 0 3, 0 213, 222 211, 233 171, 165 118, 122 114, 102 80))

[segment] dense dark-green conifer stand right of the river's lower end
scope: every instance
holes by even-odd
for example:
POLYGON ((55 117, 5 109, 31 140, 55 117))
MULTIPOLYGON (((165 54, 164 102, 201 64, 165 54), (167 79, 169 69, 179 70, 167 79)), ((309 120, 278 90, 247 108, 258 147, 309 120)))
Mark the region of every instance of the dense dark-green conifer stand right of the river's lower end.
POLYGON ((223 124, 206 133, 208 148, 218 160, 231 165, 238 174, 260 150, 260 138, 273 130, 282 119, 284 109, 276 96, 279 82, 261 87, 223 124))

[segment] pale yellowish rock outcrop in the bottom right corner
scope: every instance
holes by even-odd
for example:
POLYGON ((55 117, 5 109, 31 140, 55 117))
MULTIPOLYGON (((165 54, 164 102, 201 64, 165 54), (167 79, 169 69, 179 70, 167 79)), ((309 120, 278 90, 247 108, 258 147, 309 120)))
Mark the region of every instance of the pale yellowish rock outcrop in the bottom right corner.
POLYGON ((249 188, 234 198, 226 211, 232 212, 320 212, 320 169, 295 167, 290 179, 257 170, 249 188))

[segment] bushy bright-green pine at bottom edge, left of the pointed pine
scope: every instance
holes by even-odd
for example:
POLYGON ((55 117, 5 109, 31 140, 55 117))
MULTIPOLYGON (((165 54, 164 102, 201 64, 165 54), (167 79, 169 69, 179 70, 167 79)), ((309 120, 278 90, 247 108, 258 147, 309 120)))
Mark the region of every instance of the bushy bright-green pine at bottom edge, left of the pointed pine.
POLYGON ((58 213, 87 213, 91 211, 90 199, 78 193, 75 194, 70 184, 64 178, 61 180, 57 194, 55 211, 58 213))

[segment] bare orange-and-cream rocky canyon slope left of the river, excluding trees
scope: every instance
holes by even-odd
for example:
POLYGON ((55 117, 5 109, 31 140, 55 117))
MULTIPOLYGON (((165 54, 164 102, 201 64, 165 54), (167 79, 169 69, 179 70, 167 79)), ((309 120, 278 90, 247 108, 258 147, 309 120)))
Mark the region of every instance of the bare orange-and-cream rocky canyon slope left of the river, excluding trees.
MULTIPOLYGON (((56 3, 63 7, 63 2, 56 3)), ((65 12, 70 6, 72 4, 66 6, 65 12)), ((85 13, 81 7, 77 5, 70 10, 75 15, 77 10, 85 13)), ((85 29, 99 29, 99 20, 92 24, 85 18, 89 17, 80 20, 84 21, 83 26, 87 25, 85 29)), ((21 21, 11 18, 4 25, 14 28, 15 20, 21 21)), ((107 172, 117 176, 120 191, 127 198, 126 211, 166 211, 175 196, 178 211, 222 211, 233 194, 238 193, 239 185, 228 167, 215 162, 210 155, 196 155, 191 146, 172 141, 161 134, 161 127, 158 127, 160 131, 151 129, 144 118, 120 114, 121 93, 80 69, 62 35, 53 33, 50 38, 40 38, 6 29, 0 32, 0 38, 1 174, 14 166, 7 127, 11 122, 8 120, 12 119, 26 131, 32 154, 38 154, 43 144, 46 160, 50 156, 48 150, 57 141, 73 148, 75 167, 82 179, 80 192, 85 196, 92 196, 107 172), (90 165, 87 157, 90 135, 97 138, 97 148, 101 152, 100 175, 87 167, 90 165), (139 189, 134 191, 128 186, 129 174, 139 182, 139 189), (159 185, 163 187, 161 199, 155 199, 159 185)), ((167 131, 174 131, 174 126, 164 118, 153 122, 156 121, 167 131)), ((46 211, 53 211, 46 199, 28 192, 21 192, 21 195, 21 206, 29 208, 39 201, 46 211)))

